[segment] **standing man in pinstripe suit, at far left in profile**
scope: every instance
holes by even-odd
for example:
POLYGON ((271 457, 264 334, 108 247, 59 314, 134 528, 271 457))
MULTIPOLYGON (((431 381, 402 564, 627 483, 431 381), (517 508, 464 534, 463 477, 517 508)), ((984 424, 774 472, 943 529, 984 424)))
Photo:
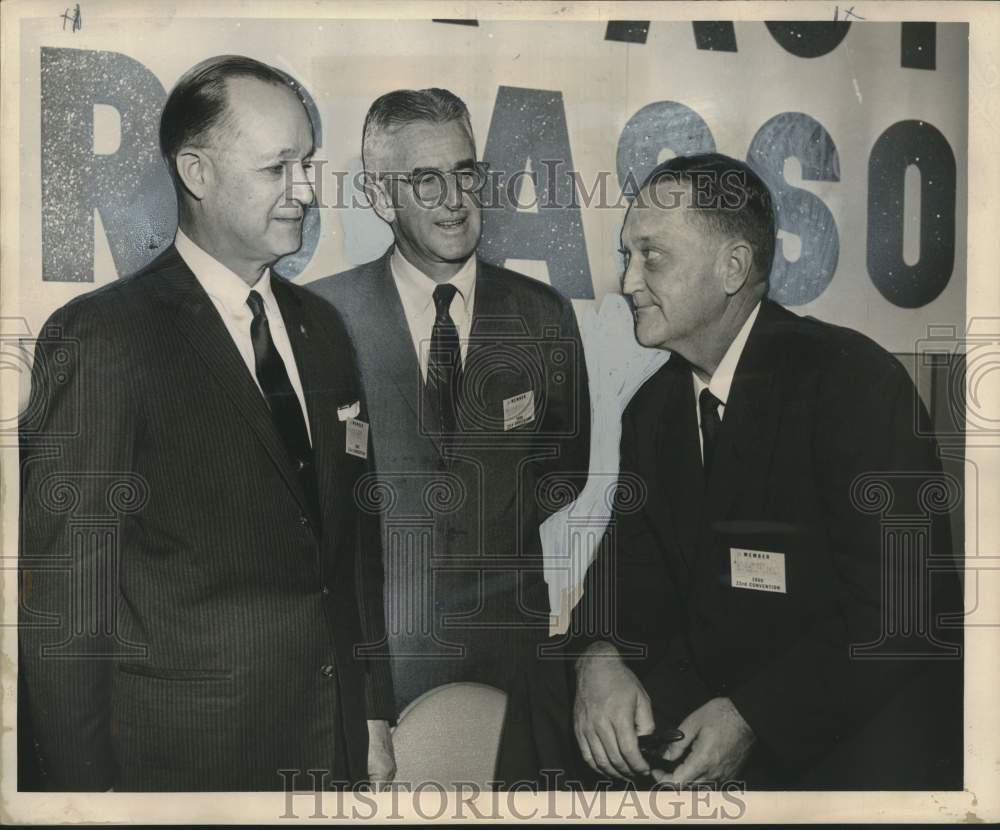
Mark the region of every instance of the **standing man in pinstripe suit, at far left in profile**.
POLYGON ((270 270, 313 200, 301 93, 209 59, 160 142, 175 244, 52 315, 22 419, 21 657, 47 785, 391 777, 391 679, 356 654, 384 625, 378 528, 353 498, 364 395, 336 312, 270 270))

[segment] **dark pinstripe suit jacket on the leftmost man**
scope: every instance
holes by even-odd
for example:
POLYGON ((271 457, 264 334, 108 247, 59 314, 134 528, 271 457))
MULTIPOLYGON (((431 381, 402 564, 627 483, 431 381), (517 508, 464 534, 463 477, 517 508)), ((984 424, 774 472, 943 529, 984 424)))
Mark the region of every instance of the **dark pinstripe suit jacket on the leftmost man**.
POLYGON ((385 662, 355 656, 384 623, 377 520, 353 498, 368 463, 345 452, 337 413, 361 401, 367 417, 354 354, 332 308, 273 286, 321 530, 172 247, 58 310, 38 343, 21 424, 21 659, 55 789, 280 789, 279 770, 310 768, 356 780, 366 717, 394 714, 385 662))

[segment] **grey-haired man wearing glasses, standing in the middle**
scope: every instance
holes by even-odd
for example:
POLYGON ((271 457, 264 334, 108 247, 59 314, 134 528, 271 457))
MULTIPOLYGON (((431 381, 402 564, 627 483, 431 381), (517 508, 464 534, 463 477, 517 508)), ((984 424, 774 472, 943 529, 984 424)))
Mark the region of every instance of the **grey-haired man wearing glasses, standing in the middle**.
POLYGON ((547 636, 538 526, 585 477, 590 406, 571 304, 475 256, 487 171, 465 104, 382 96, 363 161, 395 244, 309 287, 358 350, 402 707, 451 681, 507 689, 547 636))

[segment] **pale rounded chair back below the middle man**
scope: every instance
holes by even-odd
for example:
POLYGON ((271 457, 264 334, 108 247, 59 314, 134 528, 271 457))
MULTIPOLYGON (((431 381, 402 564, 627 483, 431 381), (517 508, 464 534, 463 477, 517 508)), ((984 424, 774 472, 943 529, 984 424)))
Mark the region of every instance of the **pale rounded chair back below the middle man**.
POLYGON ((484 683, 446 683, 407 706, 393 730, 396 781, 489 788, 507 695, 484 683))

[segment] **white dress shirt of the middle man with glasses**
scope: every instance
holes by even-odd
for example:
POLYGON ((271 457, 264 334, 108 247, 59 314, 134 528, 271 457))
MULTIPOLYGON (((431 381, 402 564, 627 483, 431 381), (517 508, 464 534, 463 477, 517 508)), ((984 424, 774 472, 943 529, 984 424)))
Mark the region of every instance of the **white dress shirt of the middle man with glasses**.
MULTIPOLYGON (((403 302, 403 314, 413 340, 413 351, 420 361, 420 374, 426 381, 431 334, 434 332, 434 318, 437 316, 434 289, 441 283, 435 282, 413 265, 399 252, 399 248, 393 250, 389 267, 392 269, 396 290, 399 291, 399 299, 403 302)), ((465 355, 469 350, 469 331, 472 329, 472 304, 476 296, 475 256, 470 256, 447 283, 458 289, 448 311, 458 330, 459 349, 464 365, 465 355)))

